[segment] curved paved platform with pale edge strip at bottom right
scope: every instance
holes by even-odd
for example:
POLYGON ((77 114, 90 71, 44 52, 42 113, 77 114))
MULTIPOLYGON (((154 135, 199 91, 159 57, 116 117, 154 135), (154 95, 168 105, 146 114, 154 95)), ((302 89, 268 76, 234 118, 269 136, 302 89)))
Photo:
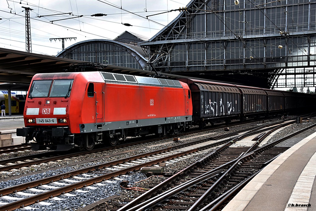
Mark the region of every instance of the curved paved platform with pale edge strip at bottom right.
POLYGON ((222 210, 316 210, 315 176, 316 132, 273 160, 222 210))

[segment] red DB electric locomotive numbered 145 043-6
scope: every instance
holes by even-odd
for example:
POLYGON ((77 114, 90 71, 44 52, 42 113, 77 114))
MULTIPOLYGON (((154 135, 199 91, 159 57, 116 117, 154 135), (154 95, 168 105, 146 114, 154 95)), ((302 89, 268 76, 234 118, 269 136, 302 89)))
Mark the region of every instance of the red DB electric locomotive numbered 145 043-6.
POLYGON ((91 150, 127 136, 178 133, 192 120, 191 93, 181 81, 106 72, 36 74, 24 109, 34 150, 91 150))

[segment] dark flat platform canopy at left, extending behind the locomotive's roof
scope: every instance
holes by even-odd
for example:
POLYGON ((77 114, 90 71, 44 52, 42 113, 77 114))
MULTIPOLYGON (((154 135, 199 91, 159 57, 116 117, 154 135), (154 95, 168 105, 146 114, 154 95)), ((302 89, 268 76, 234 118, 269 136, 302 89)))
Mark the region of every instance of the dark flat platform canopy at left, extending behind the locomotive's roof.
MULTIPOLYGON (((28 53, 0 48, 0 90, 27 91, 33 75, 37 73, 60 73, 69 69, 70 64, 84 61, 55 56, 28 53)), ((130 75, 154 75, 152 71, 103 65, 105 72, 130 75)))

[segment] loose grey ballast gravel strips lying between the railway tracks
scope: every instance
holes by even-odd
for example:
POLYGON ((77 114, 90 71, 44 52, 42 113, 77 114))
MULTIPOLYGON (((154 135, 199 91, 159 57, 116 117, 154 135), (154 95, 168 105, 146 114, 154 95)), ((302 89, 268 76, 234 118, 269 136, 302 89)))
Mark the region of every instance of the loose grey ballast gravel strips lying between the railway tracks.
MULTIPOLYGON (((277 133, 275 136, 273 136, 272 139, 277 140, 285 135, 293 133, 297 130, 301 130, 302 128, 305 128, 307 125, 314 124, 315 122, 316 122, 315 119, 310 119, 309 122, 303 122, 302 124, 293 124, 292 126, 287 127, 284 130, 281 130, 279 133, 277 133)), ((270 122, 267 122, 267 123, 270 123, 270 122)), ((266 123, 263 123, 263 124, 266 124, 266 123)), ((262 125, 262 123, 258 124, 258 125, 262 125)), ((253 124, 249 124, 248 127, 253 127, 253 126, 254 126, 253 124)), ((245 126, 244 128, 246 128, 246 127, 247 126, 245 126)), ((229 132, 233 132, 233 131, 237 131, 237 130, 240 130, 240 128, 234 129, 234 127, 232 127, 232 128, 230 128, 229 132)), ((211 132, 214 134, 207 135, 204 137, 217 136, 217 135, 227 133, 227 132, 224 132, 222 129, 214 130, 211 132)), ((198 135, 205 135, 205 133, 199 133, 196 136, 198 136, 198 135)), ((186 137, 189 138, 189 136, 186 136, 186 137)), ((181 139, 185 139, 186 137, 181 137, 181 139)), ((112 160, 125 158, 128 156, 133 156, 136 154, 145 153, 148 151, 153 151, 153 150, 157 150, 157 149, 161 149, 161 148, 175 146, 175 145, 182 144, 185 142, 195 141, 197 139, 200 139, 200 138, 191 138, 191 139, 188 139, 186 141, 180 141, 179 143, 172 142, 172 139, 166 139, 163 141, 150 142, 148 144, 135 145, 135 146, 132 146, 129 148, 120 148, 120 149, 115 149, 115 150, 110 150, 110 151, 104 151, 102 153, 90 154, 88 156, 76 157, 76 158, 67 159, 67 160, 65 159, 65 160, 53 162, 53 163, 50 163, 47 165, 33 166, 31 168, 19 170, 16 172, 1 173, 0 178, 9 178, 12 176, 18 176, 18 175, 22 175, 25 173, 30 173, 30 172, 35 173, 35 172, 46 170, 45 172, 35 173, 33 175, 27 175, 27 176, 17 178, 14 180, 0 182, 0 189, 11 187, 11 186, 18 185, 18 184, 23 184, 26 182, 30 182, 30 181, 34 181, 34 180, 38 180, 38 179, 42 179, 42 178, 47 178, 47 177, 54 176, 54 175, 57 175, 60 173, 70 172, 70 171, 73 171, 73 170, 76 170, 79 168, 84 168, 87 166, 97 165, 97 164, 109 162, 112 160), (161 142, 166 142, 166 144, 159 145, 159 144, 161 144, 161 142), (146 148, 147 146, 153 146, 153 147, 146 148), (139 149, 139 148, 142 148, 142 149, 139 149), (118 153, 118 152, 124 152, 126 150, 129 150, 129 152, 124 153, 124 154, 119 154, 116 156, 106 157, 108 155, 118 153), (102 158, 102 157, 106 157, 106 158, 102 158), (89 162, 87 162, 87 161, 89 161, 89 162), (75 165, 75 163, 80 163, 80 164, 75 165), (47 169, 49 169, 49 168, 55 168, 55 170, 47 171, 47 169)), ((181 160, 179 162, 169 164, 168 166, 165 167, 165 171, 166 172, 177 172, 177 171, 185 168, 189 164, 195 162, 196 160, 202 158, 206 154, 207 153, 200 154, 198 156, 194 156, 194 157, 186 159, 186 160, 181 160)), ((137 186, 137 187, 143 187, 143 188, 147 188, 147 189, 150 188, 150 186, 154 185, 155 183, 159 183, 161 180, 164 180, 163 177, 152 177, 152 178, 147 179, 144 174, 139 173, 139 172, 130 172, 129 174, 119 176, 118 178, 120 180, 111 179, 109 181, 109 183, 102 182, 100 184, 94 184, 90 187, 86 187, 86 188, 82 188, 80 190, 72 191, 70 193, 67 193, 67 194, 64 194, 64 195, 61 195, 58 197, 54 197, 52 199, 45 200, 44 202, 36 203, 36 204, 30 205, 26 208, 21 208, 18 210, 26 210, 26 209, 30 209, 30 210, 32 210, 32 209, 35 209, 35 210, 65 210, 65 211, 66 210, 78 210, 78 209, 82 209, 82 208, 84 209, 84 207, 86 207, 87 205, 94 203, 94 202, 98 202, 102 199, 106 199, 106 198, 111 197, 111 196, 118 196, 115 199, 112 199, 106 203, 100 204, 100 205, 91 209, 91 210, 95 210, 95 211, 109 210, 111 208, 116 207, 119 203, 122 203, 127 199, 132 199, 134 195, 140 194, 138 191, 135 191, 135 190, 125 190, 125 189, 121 188, 119 184, 122 180, 128 180, 130 182, 131 187, 137 186), (138 182, 138 181, 142 181, 142 182, 136 184, 136 182, 138 182), (91 189, 91 187, 93 189, 91 189)), ((56 186, 56 185, 54 185, 54 186, 56 186)), ((28 190, 27 192, 32 193, 31 190, 28 190)), ((16 194, 12 194, 10 196, 14 197, 15 195, 16 194)), ((26 197, 26 196, 18 196, 18 197, 26 197)), ((1 202, 2 201, 3 200, 1 200, 1 202)))

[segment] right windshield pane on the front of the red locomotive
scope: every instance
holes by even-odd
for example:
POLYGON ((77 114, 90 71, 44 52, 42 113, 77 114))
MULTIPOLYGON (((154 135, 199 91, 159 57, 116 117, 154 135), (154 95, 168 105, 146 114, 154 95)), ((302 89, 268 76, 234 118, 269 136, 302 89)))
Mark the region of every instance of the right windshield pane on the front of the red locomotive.
POLYGON ((52 85, 52 90, 50 97, 64 97, 70 96, 70 91, 72 87, 73 79, 61 79, 54 80, 52 85))

